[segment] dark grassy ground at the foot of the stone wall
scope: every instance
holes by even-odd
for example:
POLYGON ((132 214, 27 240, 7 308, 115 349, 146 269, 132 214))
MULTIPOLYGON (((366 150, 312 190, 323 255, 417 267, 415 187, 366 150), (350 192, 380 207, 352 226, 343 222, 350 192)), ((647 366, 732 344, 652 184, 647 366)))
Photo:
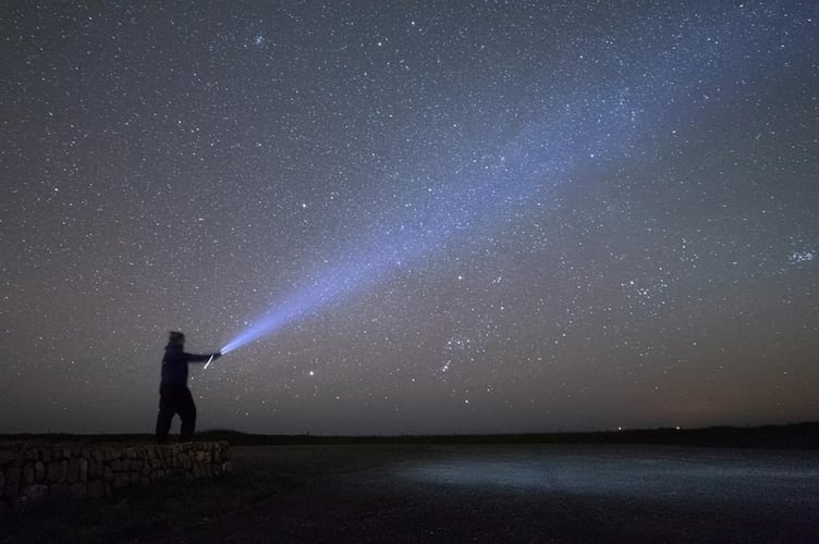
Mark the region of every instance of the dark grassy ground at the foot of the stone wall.
POLYGON ((240 469, 216 480, 132 486, 106 499, 42 502, 0 515, 0 543, 135 542, 196 526, 296 485, 291 474, 240 469))

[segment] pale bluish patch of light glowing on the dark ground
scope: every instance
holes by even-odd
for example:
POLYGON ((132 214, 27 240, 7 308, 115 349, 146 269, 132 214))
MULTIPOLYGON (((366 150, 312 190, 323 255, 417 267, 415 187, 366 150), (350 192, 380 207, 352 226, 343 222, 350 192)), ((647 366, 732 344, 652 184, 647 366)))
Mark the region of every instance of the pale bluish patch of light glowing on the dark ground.
POLYGON ((476 491, 700 502, 730 502, 742 494, 745 500, 775 503, 787 500, 793 485, 815 485, 819 470, 809 457, 815 456, 649 446, 489 447, 407 461, 393 473, 476 491))

